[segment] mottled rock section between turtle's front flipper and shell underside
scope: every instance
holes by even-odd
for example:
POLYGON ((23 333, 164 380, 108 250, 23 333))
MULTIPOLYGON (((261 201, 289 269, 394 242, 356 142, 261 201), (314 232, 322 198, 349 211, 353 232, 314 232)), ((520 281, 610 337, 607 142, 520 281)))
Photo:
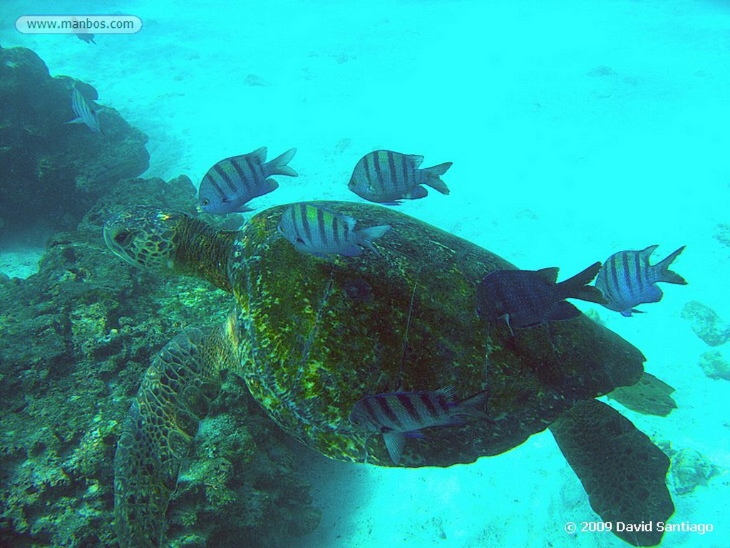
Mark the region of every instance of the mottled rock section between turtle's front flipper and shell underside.
POLYGON ((319 525, 310 485, 294 472, 301 446, 269 422, 245 385, 228 377, 172 495, 172 546, 188 546, 189 536, 216 547, 293 546, 319 525))

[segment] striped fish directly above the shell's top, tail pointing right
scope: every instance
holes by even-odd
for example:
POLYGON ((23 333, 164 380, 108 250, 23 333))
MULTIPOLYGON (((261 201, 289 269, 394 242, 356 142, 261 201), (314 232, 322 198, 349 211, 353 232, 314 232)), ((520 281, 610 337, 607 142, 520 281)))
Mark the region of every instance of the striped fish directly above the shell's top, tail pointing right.
POLYGON ((419 169, 422 162, 423 156, 375 150, 360 158, 347 188, 361 198, 388 205, 398 205, 404 198, 427 196, 429 191, 421 185, 448 194, 449 189, 439 176, 446 173, 451 162, 419 169))

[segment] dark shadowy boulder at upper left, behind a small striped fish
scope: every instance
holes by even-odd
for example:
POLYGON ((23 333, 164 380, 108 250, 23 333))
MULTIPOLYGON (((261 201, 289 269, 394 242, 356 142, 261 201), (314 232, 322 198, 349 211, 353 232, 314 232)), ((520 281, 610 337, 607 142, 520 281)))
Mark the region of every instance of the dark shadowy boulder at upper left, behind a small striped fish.
POLYGON ((76 115, 71 90, 91 85, 50 77, 23 47, 0 47, 0 219, 5 238, 37 240, 74 228, 112 184, 149 166, 147 136, 110 107, 99 111, 101 133, 67 124, 76 115))

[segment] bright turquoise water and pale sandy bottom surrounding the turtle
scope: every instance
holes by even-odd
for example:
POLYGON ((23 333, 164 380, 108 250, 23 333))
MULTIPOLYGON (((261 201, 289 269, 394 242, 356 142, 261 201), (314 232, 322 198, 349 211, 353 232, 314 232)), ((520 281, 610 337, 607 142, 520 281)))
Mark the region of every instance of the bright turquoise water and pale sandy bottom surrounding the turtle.
MULTIPOLYGON (((353 166, 388 149, 423 155, 428 166, 453 162, 449 196, 432 191, 399 211, 522 269, 574 273, 651 244, 660 246, 658 261, 686 245, 673 268, 688 285, 665 284, 646 314, 577 306, 595 309, 642 350, 646 371, 677 389, 668 417, 609 403, 659 447, 693 449, 713 470, 704 480, 697 471, 686 493, 670 471, 670 522, 712 530, 667 532, 662 544, 726 547, 730 384, 700 363, 707 352, 730 354, 728 344, 708 347, 683 309, 699 301, 730 321, 729 8, 688 0, 184 8, 11 0, 0 6, 0 45, 28 47, 51 75, 90 83, 99 103, 145 132, 143 177, 187 174, 197 185, 221 158, 297 147, 299 177, 256 198, 257 211, 355 199, 347 190, 353 166), (97 34, 96 44, 15 30, 21 15, 44 13, 136 15, 144 26, 97 34)), ((0 271, 27 276, 18 269, 27 259, 12 251, 0 250, 0 271)), ((566 532, 568 522, 599 517, 548 431, 450 468, 383 469, 313 453, 304 460, 322 518, 301 547, 628 546, 610 533, 566 532)))

